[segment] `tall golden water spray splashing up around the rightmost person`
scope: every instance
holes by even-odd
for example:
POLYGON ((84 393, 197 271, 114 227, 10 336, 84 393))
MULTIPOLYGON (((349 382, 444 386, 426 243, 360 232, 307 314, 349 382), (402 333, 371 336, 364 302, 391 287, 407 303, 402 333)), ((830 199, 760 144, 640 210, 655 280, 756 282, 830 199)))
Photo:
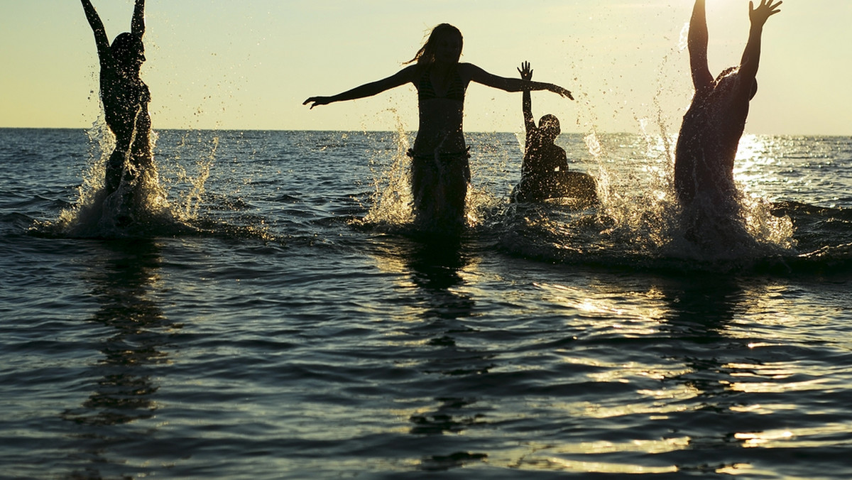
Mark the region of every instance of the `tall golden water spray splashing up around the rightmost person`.
MULTIPOLYGON (((682 28, 676 47, 664 55, 660 72, 671 71, 671 61, 682 58, 687 38, 688 23, 682 28)), ((612 238, 614 245, 620 245, 620 252, 627 256, 639 254, 651 259, 683 258, 714 263, 789 255, 795 247, 791 220, 776 217, 769 201, 751 194, 746 182, 737 182, 740 195, 736 205, 726 211, 720 210, 719 205, 707 204, 694 205, 691 211, 682 210, 673 185, 677 136, 670 133, 670 125, 679 126, 680 114, 667 115, 663 107, 671 92, 682 90, 678 88, 681 63, 684 62, 678 62, 674 68, 678 72, 659 75, 651 103, 653 113, 648 117, 635 116, 644 145, 631 146, 632 158, 613 158, 594 128, 584 138, 598 165, 602 211, 613 221, 612 227, 603 230, 602 235, 612 238), (615 168, 613 164, 621 165, 615 168), (630 168, 620 168, 622 165, 630 168)), ((688 105, 691 95, 691 90, 684 91, 681 103, 688 105)), ((740 143, 743 150, 743 142, 740 143)), ((623 152, 624 148, 615 150, 623 152)))

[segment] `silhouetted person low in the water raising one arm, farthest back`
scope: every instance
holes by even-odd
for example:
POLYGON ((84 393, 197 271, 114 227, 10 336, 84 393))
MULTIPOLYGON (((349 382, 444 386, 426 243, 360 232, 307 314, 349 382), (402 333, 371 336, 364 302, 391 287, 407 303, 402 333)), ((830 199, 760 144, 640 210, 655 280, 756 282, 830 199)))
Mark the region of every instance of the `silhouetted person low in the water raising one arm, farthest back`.
MULTIPOLYGON (((533 78, 528 61, 521 64, 518 72, 524 80, 533 78)), ((521 183, 515 188, 512 200, 534 202, 570 198, 578 200, 580 205, 597 203, 595 179, 578 171, 568 171, 565 150, 555 143, 561 133, 559 119, 547 114, 538 120, 536 126, 529 90, 523 93, 522 107, 527 137, 521 164, 521 183)))

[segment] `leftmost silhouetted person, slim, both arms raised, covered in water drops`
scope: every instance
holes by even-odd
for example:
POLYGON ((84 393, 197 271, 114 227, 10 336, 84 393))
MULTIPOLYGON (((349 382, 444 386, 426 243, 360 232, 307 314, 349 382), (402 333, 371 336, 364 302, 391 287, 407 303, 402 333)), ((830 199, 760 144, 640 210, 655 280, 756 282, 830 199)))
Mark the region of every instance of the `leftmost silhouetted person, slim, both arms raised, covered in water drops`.
POLYGON ((151 94, 139 77, 145 61, 145 0, 136 0, 130 32, 118 35, 112 44, 107 38, 103 22, 89 0, 81 0, 89 26, 95 33, 95 45, 101 64, 101 102, 107 126, 115 136, 115 149, 107 160, 105 191, 111 195, 121 186, 122 180, 132 194, 139 185, 140 176, 153 169, 151 153, 151 117, 148 102, 151 94))

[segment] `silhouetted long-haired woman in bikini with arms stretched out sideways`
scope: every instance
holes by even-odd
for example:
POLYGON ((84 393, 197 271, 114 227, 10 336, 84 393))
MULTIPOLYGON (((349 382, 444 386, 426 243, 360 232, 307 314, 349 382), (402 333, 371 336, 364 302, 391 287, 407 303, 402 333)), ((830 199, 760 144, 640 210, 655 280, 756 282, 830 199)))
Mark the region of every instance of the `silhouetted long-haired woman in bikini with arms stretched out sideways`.
POLYGON ((333 96, 312 96, 311 108, 334 101, 377 95, 404 84, 417 89, 419 128, 412 157, 412 196, 416 222, 431 228, 458 228, 464 223, 464 202, 470 181, 469 148, 462 130, 464 94, 470 82, 509 92, 550 90, 573 100, 556 85, 504 78, 471 63, 460 63, 462 32, 443 23, 435 26, 409 65, 388 78, 333 96))

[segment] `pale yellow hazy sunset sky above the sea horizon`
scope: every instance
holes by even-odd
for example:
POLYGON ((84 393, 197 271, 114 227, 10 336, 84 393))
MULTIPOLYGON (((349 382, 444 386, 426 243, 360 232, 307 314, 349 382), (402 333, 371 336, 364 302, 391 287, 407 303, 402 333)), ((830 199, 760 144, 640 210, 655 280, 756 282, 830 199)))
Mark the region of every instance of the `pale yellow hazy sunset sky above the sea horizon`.
MULTIPOLYGON (((93 0, 110 39, 132 0, 93 0)), ((685 48, 693 0, 147 0, 154 129, 416 130, 406 85, 316 107, 387 77, 431 27, 463 32, 462 61, 572 90, 533 92, 533 113, 565 132, 676 133, 692 96, 685 48)), ((746 132, 852 135, 852 2, 786 0, 763 32, 760 91, 746 132)), ((711 72, 739 63, 747 0, 707 0, 711 72)), ((0 0, 0 127, 97 121, 95 42, 79 2, 0 0)), ((471 84, 467 131, 520 131, 521 94, 471 84)))

